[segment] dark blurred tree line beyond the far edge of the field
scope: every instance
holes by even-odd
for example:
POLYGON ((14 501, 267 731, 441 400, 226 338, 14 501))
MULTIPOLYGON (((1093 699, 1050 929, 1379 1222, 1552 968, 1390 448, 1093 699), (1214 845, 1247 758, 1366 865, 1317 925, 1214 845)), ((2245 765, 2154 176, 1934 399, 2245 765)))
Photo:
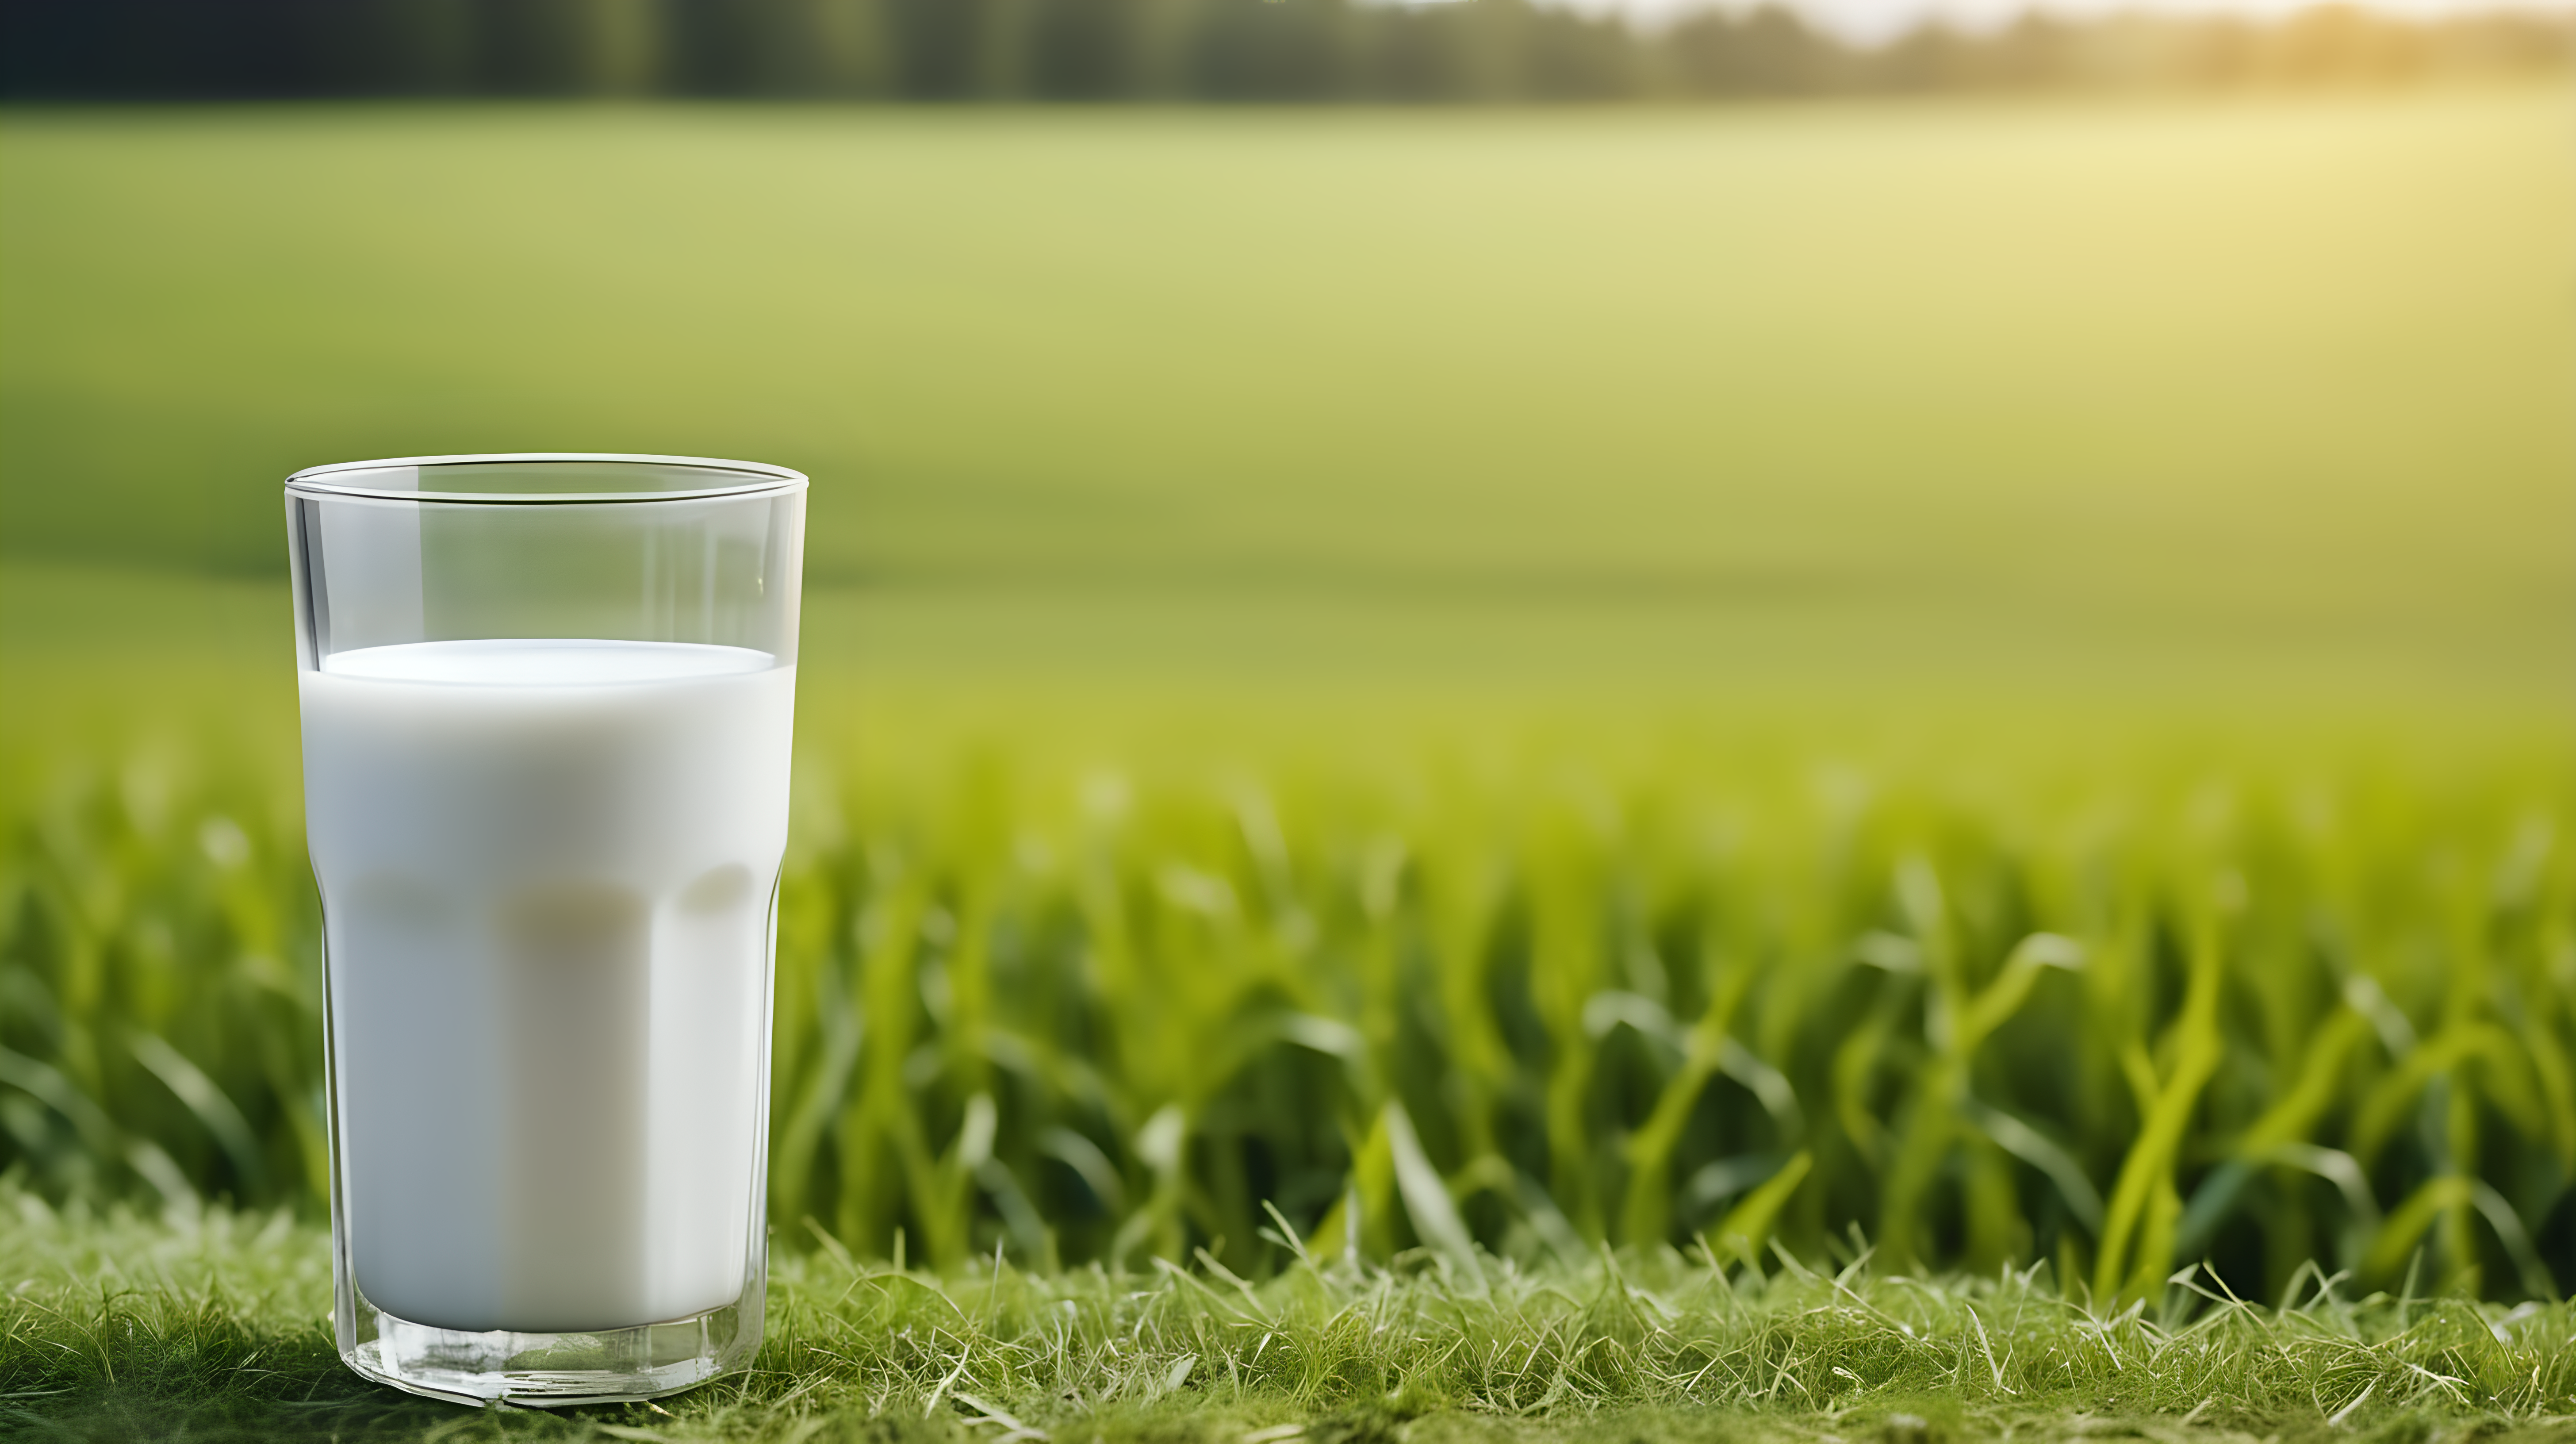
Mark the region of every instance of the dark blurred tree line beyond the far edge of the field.
POLYGON ((0 98, 1623 101, 2563 72, 2576 21, 2025 15, 1857 46, 1793 10, 1533 0, 0 0, 0 98))

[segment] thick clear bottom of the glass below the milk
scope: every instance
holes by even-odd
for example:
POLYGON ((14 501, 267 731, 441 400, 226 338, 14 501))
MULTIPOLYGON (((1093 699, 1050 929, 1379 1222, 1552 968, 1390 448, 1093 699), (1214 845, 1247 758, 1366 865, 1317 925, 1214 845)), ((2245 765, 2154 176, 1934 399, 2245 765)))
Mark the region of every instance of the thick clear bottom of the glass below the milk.
POLYGON ((675 1395, 729 1374, 760 1349, 757 1289, 701 1315, 595 1333, 464 1333, 358 1300, 340 1361, 415 1395, 562 1408, 675 1395), (750 1302, 750 1318, 744 1318, 750 1302))

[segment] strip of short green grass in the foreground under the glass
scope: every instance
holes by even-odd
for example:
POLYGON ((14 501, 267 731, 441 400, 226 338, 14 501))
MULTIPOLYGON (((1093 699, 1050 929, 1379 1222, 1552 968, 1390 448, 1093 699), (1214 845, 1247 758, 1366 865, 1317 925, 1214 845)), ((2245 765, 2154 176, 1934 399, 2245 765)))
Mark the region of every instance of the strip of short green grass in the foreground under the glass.
POLYGON ((0 1434, 28 1439, 1816 1439, 2022 1434, 2576 1439, 2576 1310, 2370 1294, 2257 1305, 2184 1271, 2161 1307, 1991 1279, 1672 1251, 1473 1269, 1298 1258, 1249 1282, 773 1266, 755 1372, 659 1405, 466 1410, 332 1354, 322 1230, 149 1222, 0 1189, 0 1434))

